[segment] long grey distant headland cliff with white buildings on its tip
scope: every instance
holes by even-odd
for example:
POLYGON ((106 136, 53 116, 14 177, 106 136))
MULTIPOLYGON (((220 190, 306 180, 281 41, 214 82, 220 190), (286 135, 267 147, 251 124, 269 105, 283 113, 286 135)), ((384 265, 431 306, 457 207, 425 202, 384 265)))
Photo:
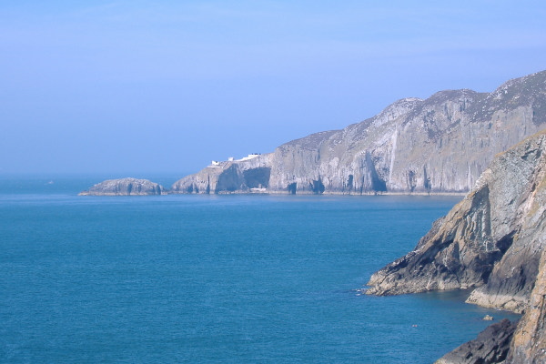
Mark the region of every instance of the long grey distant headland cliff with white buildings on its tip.
POLYGON ((468 192, 496 153, 545 126, 546 71, 490 94, 456 90, 402 99, 343 130, 284 144, 259 163, 206 168, 173 190, 245 192, 253 185, 247 171, 272 193, 468 192), (254 168, 263 169, 249 172, 254 168))

